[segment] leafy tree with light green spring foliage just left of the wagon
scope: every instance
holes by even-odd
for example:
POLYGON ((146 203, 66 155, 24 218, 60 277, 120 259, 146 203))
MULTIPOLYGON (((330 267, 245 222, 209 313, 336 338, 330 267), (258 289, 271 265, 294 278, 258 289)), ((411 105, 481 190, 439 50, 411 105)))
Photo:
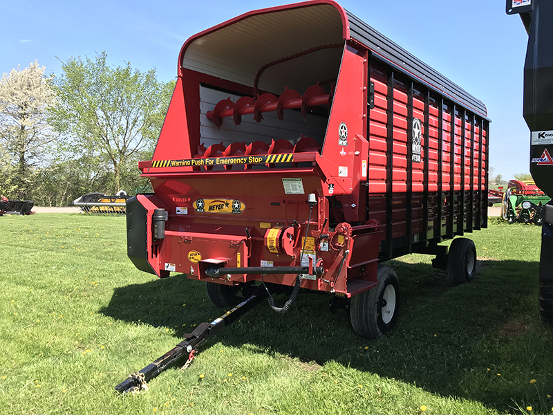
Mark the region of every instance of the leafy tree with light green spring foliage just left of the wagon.
POLYGON ((62 62, 53 120, 66 137, 66 150, 78 157, 88 154, 90 163, 113 174, 111 189, 102 191, 115 194, 125 172, 132 169, 139 176, 138 154, 153 150, 174 82, 158 82, 154 69, 143 73, 130 63, 111 67, 106 58, 104 52, 94 60, 62 62))

